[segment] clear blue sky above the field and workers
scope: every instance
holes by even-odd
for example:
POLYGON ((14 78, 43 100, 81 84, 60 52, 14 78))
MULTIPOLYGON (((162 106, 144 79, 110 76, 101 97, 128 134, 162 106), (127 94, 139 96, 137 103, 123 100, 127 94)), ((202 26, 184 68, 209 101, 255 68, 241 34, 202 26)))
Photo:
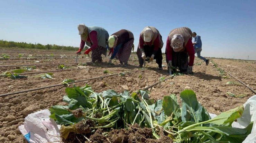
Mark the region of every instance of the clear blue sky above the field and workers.
MULTIPOLYGON (((0 39, 80 45, 77 25, 121 29, 135 37, 146 26, 165 44, 172 29, 188 27, 201 36, 205 57, 256 60, 255 0, 0 0, 0 39)), ((194 39, 193 39, 194 40, 194 39)))

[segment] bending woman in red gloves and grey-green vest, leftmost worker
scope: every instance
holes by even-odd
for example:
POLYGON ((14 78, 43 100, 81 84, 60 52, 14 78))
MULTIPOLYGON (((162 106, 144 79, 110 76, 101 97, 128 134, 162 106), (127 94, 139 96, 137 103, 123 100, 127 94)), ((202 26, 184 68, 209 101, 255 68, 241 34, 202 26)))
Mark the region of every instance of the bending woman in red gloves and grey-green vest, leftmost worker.
POLYGON ((87 62, 87 64, 93 64, 95 61, 101 63, 101 54, 107 55, 106 44, 109 37, 108 31, 97 26, 87 27, 84 24, 79 24, 77 29, 79 35, 81 35, 81 43, 76 54, 81 53, 86 42, 86 45, 90 46, 90 48, 86 50, 84 54, 89 54, 92 51, 92 61, 87 62))

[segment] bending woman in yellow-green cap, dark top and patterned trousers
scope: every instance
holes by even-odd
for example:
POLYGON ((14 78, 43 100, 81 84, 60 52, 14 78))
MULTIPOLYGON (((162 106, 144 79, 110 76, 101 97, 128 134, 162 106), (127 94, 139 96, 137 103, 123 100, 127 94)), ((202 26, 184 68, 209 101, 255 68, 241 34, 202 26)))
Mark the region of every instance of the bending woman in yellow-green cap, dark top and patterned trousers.
POLYGON ((134 36, 129 30, 122 29, 109 36, 108 46, 114 50, 109 59, 109 63, 112 63, 112 59, 117 55, 120 64, 127 66, 133 42, 134 36))

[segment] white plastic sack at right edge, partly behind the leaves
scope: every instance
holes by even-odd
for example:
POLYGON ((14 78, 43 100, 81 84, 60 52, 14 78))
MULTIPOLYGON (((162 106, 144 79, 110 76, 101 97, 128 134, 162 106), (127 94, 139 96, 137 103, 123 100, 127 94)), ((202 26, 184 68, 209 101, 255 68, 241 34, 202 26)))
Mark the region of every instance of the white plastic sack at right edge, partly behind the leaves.
MULTIPOLYGON (((216 114, 209 113, 211 118, 216 117, 216 114)), ((252 132, 246 137, 243 143, 256 143, 256 95, 250 97, 244 103, 244 112, 241 118, 237 119, 237 122, 232 123, 233 128, 246 128, 250 122, 253 123, 252 132)))

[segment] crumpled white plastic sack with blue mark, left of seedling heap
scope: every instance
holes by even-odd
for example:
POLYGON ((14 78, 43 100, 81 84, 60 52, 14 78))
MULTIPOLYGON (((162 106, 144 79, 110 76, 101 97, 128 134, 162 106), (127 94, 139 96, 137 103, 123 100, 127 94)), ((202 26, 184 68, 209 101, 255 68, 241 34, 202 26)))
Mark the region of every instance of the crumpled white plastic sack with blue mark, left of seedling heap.
POLYGON ((61 141, 60 130, 48 109, 29 114, 19 130, 29 143, 61 141))

